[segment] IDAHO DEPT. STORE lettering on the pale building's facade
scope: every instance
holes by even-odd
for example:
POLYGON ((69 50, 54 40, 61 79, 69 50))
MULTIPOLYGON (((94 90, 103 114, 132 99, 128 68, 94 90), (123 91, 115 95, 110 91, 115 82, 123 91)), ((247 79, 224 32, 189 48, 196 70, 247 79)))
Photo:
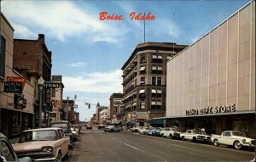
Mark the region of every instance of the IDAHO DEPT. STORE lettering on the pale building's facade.
POLYGON ((202 109, 189 109, 186 110, 186 115, 211 115, 211 114, 219 114, 219 113, 230 113, 236 112, 236 104, 233 105, 221 105, 202 109))

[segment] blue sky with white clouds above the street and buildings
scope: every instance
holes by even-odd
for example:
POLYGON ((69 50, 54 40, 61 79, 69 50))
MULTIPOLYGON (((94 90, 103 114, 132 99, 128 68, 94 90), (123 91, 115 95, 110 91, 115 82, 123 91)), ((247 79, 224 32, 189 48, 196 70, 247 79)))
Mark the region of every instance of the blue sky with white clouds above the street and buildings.
POLYGON ((131 13, 153 19, 145 21, 145 42, 191 45, 248 2, 3 0, 1 12, 15 29, 15 38, 37 40, 44 34, 52 52, 52 75, 62 75, 63 98, 76 95, 80 120, 90 120, 96 103, 109 106, 109 97, 123 92, 121 68, 144 42, 144 21, 131 20, 131 13), (102 12, 123 19, 100 20, 102 12))

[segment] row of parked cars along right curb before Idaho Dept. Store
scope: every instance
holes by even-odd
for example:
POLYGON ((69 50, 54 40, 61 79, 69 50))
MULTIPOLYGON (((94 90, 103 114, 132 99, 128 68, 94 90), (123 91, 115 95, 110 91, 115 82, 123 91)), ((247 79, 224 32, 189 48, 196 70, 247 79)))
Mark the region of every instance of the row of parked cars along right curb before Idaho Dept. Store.
POLYGON ((233 146, 236 149, 241 149, 242 147, 254 148, 256 144, 255 139, 246 137, 246 133, 242 131, 223 131, 221 135, 212 134, 211 136, 207 135, 204 129, 189 129, 185 132, 180 132, 177 127, 134 127, 131 128, 131 131, 137 131, 143 135, 176 138, 183 141, 211 142, 214 146, 223 144, 233 146))

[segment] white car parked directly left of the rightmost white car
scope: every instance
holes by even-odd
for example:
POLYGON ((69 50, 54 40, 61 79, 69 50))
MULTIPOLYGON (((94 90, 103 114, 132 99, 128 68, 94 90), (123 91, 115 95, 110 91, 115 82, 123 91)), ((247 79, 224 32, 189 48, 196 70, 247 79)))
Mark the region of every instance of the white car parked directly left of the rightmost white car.
POLYGON ((211 142, 211 136, 208 136, 205 131, 187 130, 180 134, 183 141, 191 140, 192 142, 211 142))

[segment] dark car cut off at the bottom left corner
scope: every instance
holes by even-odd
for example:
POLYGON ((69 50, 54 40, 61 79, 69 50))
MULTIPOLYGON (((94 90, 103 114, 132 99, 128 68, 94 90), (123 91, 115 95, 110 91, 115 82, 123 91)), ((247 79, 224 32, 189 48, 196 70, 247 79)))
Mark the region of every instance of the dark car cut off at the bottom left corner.
POLYGON ((8 138, 0 133, 0 161, 31 162, 29 157, 18 158, 8 138))

